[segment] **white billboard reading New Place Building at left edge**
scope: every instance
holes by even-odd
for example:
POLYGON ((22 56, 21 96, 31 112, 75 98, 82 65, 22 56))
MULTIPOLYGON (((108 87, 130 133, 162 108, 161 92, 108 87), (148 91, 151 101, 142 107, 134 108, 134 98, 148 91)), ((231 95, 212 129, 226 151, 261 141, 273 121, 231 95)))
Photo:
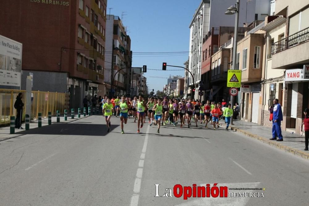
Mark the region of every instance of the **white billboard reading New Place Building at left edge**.
POLYGON ((0 85, 20 87, 23 45, 0 35, 0 85))

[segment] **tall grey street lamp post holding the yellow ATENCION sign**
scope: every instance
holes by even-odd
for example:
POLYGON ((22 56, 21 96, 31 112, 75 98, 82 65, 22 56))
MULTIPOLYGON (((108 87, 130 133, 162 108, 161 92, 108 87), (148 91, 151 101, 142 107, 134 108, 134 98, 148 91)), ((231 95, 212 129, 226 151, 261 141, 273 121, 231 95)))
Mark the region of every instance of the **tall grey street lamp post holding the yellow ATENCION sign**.
MULTIPOLYGON (((235 28, 234 28, 234 39, 233 39, 233 59, 232 59, 232 70, 236 70, 236 52, 237 52, 237 34, 238 34, 238 21, 239 21, 239 0, 236 1, 235 6, 230 6, 227 8, 227 11, 224 13, 226 15, 235 16, 235 28)), ((233 96, 231 95, 231 104, 234 105, 233 96)), ((231 124, 233 124, 233 117, 231 118, 231 124)))

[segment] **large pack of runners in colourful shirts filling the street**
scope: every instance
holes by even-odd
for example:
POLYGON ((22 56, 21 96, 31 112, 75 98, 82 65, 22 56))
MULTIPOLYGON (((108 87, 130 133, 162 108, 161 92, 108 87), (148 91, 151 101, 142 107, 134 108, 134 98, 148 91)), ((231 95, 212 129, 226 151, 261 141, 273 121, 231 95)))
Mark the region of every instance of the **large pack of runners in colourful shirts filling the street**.
POLYGON ((191 101, 190 99, 167 99, 164 97, 163 100, 160 98, 150 97, 145 99, 142 96, 134 97, 119 97, 104 98, 101 101, 103 115, 105 116, 106 125, 108 127, 108 132, 110 131, 111 117, 120 116, 121 121, 121 134, 124 134, 124 124, 127 123, 128 118, 133 116, 134 122, 138 120, 138 130, 143 127, 146 116, 148 116, 148 123, 150 126, 154 123, 158 126, 157 133, 160 133, 161 125, 173 124, 174 127, 178 124, 178 119, 180 119, 180 127, 188 125, 191 126, 191 120, 194 120, 196 127, 198 127, 198 121, 205 124, 208 128, 208 123, 211 122, 214 130, 219 128, 219 120, 223 117, 226 122, 226 130, 228 130, 231 117, 233 116, 233 109, 231 109, 231 104, 225 101, 222 104, 206 101, 202 104, 199 100, 191 101), (153 122, 154 120, 154 122, 153 122), (185 122, 186 121, 186 122, 185 122), (162 122, 162 123, 161 123, 162 122))

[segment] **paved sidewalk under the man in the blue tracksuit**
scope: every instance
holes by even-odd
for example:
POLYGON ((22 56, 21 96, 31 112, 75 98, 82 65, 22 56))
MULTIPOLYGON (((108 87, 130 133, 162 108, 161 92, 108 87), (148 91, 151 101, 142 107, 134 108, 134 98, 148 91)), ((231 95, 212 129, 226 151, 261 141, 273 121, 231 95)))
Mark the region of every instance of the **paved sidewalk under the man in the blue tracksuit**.
POLYGON ((230 127, 234 131, 309 160, 309 151, 304 151, 305 134, 301 136, 295 133, 291 134, 290 132, 282 131, 283 141, 277 142, 269 140, 269 138, 273 137, 272 128, 240 120, 233 120, 233 124, 234 125, 230 125, 230 127))

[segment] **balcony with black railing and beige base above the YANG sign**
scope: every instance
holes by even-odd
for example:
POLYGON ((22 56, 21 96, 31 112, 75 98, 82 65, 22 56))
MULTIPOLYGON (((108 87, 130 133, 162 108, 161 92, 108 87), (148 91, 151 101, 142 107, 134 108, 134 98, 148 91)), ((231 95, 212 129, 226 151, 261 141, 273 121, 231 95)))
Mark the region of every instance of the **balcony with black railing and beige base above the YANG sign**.
POLYGON ((271 46, 272 69, 291 69, 309 64, 309 28, 277 41, 271 46))

